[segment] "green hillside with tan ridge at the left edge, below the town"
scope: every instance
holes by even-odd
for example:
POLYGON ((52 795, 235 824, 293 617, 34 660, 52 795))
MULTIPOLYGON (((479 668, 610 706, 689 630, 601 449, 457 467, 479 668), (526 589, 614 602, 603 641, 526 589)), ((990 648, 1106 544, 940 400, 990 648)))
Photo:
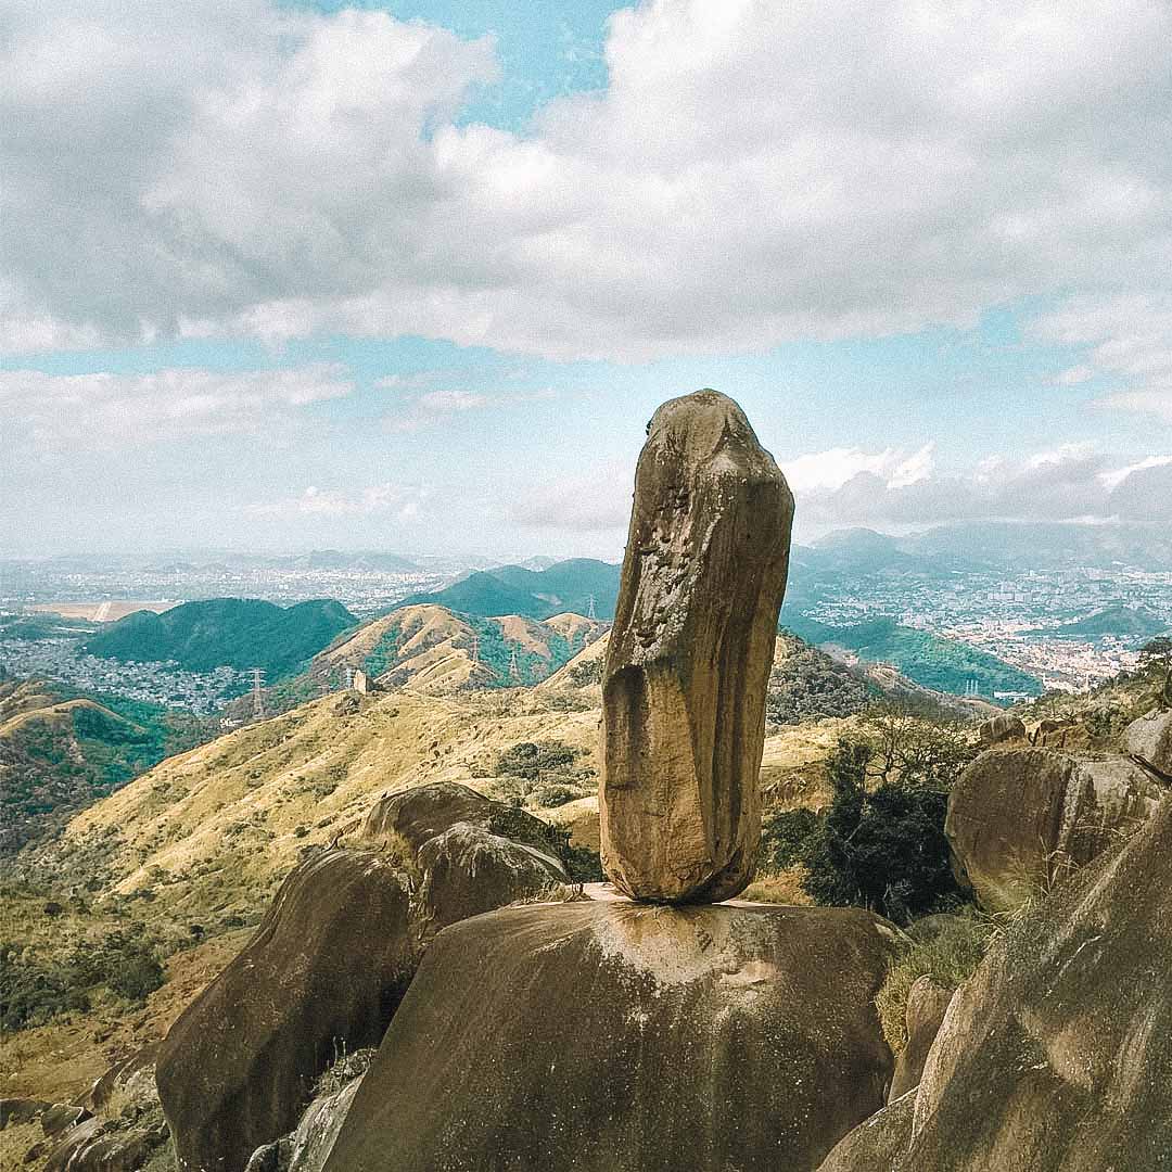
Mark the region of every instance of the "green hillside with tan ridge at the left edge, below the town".
POLYGON ((0 854, 49 837, 77 810, 206 740, 205 722, 45 680, 0 682, 0 854))

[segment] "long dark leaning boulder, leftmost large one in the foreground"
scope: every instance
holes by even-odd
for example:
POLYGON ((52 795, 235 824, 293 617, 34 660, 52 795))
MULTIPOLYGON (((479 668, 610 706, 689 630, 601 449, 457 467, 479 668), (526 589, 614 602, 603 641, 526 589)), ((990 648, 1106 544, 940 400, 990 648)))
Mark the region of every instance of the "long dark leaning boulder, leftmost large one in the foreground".
POLYGON ((376 1045, 416 963, 409 883, 375 850, 326 850, 282 884, 255 936, 159 1048, 180 1172, 238 1172, 292 1131, 313 1081, 376 1045))

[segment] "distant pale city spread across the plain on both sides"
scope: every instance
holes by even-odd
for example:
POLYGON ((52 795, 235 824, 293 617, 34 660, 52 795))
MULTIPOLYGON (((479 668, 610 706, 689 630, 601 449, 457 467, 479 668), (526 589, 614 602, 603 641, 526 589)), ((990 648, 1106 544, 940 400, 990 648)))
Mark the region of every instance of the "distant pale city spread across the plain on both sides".
MULTIPOLYGON (((1097 554, 1099 538, 1079 532, 1075 536, 1082 544, 1063 553, 1065 534, 1058 534, 1056 545, 1051 530, 1038 530, 1037 567, 1023 565, 1033 551, 1020 532, 1006 538, 1008 552, 984 561, 968 556, 959 531, 955 539, 947 531, 947 541, 939 536, 946 531, 936 531, 928 534, 931 541, 911 543, 850 531, 812 547, 795 546, 782 621, 790 616, 802 633, 802 624, 841 632, 890 620, 996 656, 1045 689, 1084 691, 1132 669, 1146 639, 1172 628, 1172 566, 1163 547, 1143 566, 1129 564, 1118 554, 1118 534, 1111 537, 1115 545, 1097 554), (1096 564, 1079 565, 1076 558, 1096 564)), ((982 536, 986 545, 995 544, 995 531, 992 538, 989 531, 982 536)), ((553 561, 507 564, 536 571, 553 561)), ((86 638, 139 606, 164 611, 211 598, 255 598, 282 606, 335 599, 364 620, 500 564, 335 551, 0 560, 0 666, 14 675, 43 674, 84 691, 207 715, 248 689, 247 672, 219 667, 200 673, 176 662, 97 657, 82 652, 86 638)), ((834 648, 833 640, 825 646, 844 660, 858 657, 834 648)))

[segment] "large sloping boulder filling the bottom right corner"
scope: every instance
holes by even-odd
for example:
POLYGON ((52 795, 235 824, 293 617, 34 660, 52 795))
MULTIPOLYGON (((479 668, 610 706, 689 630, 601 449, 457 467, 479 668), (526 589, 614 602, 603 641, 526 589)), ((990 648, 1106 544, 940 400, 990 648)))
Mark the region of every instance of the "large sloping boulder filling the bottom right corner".
POLYGON ((956 992, 900 1172, 1166 1170, 1170 973, 1172 799, 1010 925, 956 992))

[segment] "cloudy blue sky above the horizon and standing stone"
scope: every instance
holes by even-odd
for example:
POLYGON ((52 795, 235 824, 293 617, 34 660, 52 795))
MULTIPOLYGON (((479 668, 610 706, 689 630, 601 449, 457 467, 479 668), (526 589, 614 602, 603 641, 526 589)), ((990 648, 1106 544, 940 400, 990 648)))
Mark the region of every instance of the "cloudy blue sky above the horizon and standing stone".
POLYGON ((1172 523, 1172 0, 0 0, 0 556, 1172 523))

